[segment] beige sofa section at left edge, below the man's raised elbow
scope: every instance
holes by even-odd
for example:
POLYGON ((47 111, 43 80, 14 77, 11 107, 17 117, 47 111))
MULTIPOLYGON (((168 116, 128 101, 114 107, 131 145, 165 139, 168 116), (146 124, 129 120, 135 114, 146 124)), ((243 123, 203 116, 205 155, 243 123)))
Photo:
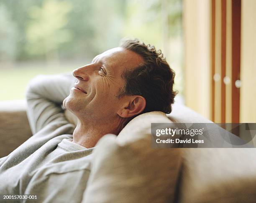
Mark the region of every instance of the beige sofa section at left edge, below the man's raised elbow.
POLYGON ((26 101, 0 101, 0 158, 10 154, 31 135, 26 101))

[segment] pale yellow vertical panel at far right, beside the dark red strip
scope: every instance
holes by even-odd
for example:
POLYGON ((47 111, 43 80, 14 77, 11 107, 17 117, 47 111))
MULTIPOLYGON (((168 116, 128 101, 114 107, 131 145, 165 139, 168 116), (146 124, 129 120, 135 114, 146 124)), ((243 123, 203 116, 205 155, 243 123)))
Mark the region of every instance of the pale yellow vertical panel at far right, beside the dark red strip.
POLYGON ((256 0, 241 3, 240 123, 256 123, 256 0))

